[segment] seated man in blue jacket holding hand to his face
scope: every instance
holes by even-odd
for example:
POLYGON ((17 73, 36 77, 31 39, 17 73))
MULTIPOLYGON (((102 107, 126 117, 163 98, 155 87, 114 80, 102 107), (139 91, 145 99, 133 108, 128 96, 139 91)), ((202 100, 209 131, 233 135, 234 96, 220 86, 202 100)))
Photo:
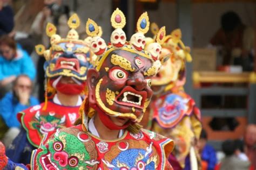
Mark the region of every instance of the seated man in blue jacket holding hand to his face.
POLYGON ((31 91, 32 81, 27 75, 22 74, 15 79, 12 93, 7 93, 0 101, 0 116, 9 128, 3 139, 5 146, 11 144, 19 133, 21 125, 17 120, 17 113, 39 104, 37 98, 31 96, 31 91))

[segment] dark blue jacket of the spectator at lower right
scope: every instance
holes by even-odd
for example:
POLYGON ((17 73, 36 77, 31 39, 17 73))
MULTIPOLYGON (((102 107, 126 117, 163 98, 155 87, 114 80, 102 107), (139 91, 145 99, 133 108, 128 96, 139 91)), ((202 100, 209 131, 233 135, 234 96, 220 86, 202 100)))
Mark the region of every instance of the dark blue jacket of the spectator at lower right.
POLYGON ((201 153, 201 159, 208 163, 207 170, 213 170, 217 164, 217 157, 214 148, 206 144, 201 153))

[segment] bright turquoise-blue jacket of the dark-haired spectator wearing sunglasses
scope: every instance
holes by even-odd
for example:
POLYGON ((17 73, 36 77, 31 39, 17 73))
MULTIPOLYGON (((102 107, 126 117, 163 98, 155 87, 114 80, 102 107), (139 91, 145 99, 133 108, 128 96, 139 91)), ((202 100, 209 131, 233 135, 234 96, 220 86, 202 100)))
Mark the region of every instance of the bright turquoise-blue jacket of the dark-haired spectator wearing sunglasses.
POLYGON ((23 49, 17 49, 17 56, 12 60, 6 60, 0 56, 0 81, 11 75, 25 74, 33 81, 36 76, 35 65, 29 54, 23 49))

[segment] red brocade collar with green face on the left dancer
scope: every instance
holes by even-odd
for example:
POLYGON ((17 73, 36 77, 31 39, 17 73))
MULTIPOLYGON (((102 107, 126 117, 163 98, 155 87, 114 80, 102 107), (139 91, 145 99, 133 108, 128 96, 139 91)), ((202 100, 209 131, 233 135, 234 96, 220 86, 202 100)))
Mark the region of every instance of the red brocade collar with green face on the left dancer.
POLYGON ((19 112, 18 118, 26 130, 26 136, 31 145, 38 147, 44 135, 44 140, 58 128, 73 126, 79 118, 79 106, 65 107, 48 102, 48 107, 43 110, 44 103, 19 112))

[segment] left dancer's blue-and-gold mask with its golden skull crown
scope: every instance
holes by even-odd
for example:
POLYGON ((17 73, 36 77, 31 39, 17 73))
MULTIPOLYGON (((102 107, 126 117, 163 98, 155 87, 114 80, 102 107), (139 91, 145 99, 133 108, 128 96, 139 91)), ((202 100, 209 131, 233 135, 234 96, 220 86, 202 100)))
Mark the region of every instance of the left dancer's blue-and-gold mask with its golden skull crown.
MULTIPOLYGON (((79 40, 75 30, 80 25, 80 20, 76 14, 69 18, 68 25, 70 27, 68 35, 66 38, 61 38, 56 34, 56 27, 48 23, 46 34, 50 37, 51 47, 46 50, 43 45, 36 46, 36 52, 39 55, 44 55, 46 59, 44 63, 45 77, 48 80, 46 82, 46 94, 51 96, 56 93, 53 81, 59 80, 60 76, 71 77, 76 82, 77 87, 79 86, 80 89, 84 90, 87 70, 92 67, 93 53, 90 46, 86 41, 79 40)), ((81 93, 84 92, 83 90, 81 93)))

